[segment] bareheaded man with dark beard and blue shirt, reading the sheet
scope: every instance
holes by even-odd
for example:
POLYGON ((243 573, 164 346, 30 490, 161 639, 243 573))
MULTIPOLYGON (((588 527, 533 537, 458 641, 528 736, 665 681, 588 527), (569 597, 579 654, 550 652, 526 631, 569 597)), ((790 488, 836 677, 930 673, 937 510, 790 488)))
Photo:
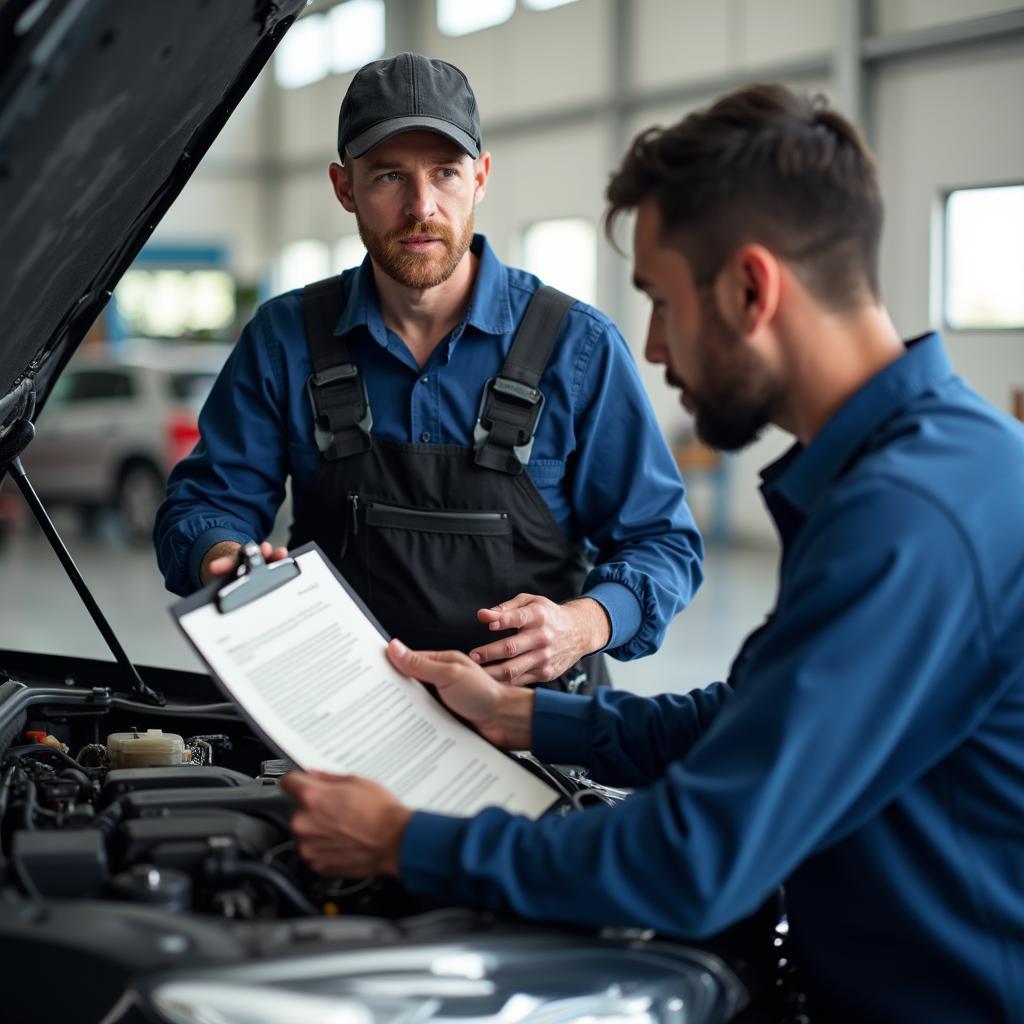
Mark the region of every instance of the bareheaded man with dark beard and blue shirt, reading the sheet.
POLYGON ((456 652, 388 653, 500 746, 636 787, 538 821, 413 813, 300 774, 317 870, 540 921, 701 939, 784 884, 813 1020, 1024 1019, 1024 431, 902 344, 879 299, 882 203, 853 127, 757 86, 642 134, 647 356, 709 442, 769 422, 778 596, 727 683, 685 696, 503 687, 456 652))

